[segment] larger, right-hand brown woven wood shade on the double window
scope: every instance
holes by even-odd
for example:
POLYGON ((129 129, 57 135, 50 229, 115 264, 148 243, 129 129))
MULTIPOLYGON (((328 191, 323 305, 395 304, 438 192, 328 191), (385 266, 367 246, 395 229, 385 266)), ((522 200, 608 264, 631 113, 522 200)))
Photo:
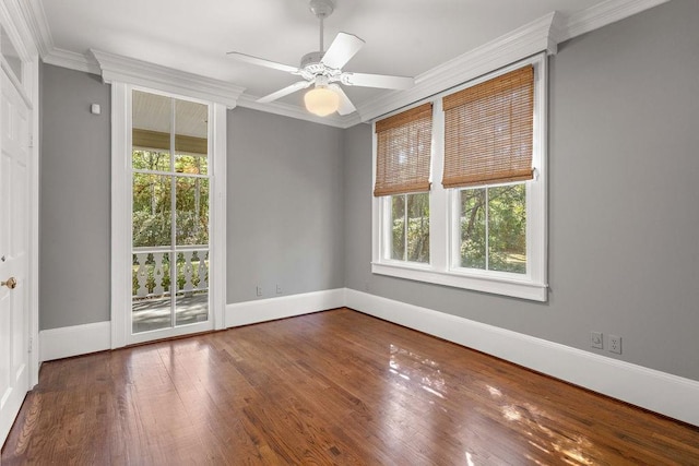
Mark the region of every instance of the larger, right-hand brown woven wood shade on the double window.
POLYGON ((445 188, 533 178, 533 67, 448 95, 442 105, 445 188))

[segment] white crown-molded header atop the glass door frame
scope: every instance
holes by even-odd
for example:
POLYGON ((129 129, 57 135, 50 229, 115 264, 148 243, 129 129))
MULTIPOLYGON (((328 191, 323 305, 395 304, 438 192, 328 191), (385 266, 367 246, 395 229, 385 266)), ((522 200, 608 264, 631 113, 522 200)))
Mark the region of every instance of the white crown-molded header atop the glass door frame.
POLYGON ((105 51, 93 50, 106 83, 114 81, 154 87, 173 94, 186 95, 202 100, 223 104, 228 108, 237 105, 245 87, 225 81, 199 74, 187 73, 159 64, 153 64, 133 58, 105 51))

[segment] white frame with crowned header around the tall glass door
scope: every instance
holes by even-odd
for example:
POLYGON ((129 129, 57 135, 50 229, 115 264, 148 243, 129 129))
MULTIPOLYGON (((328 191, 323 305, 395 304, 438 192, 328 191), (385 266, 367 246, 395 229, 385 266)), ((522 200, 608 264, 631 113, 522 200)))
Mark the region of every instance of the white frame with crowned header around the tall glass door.
MULTIPOLYGON (((226 327, 226 113, 244 88, 230 83, 92 50, 103 80, 111 84, 111 348, 135 343, 131 336, 131 89, 167 93, 210 105, 210 313, 213 328, 226 327)), ((187 327, 180 327, 187 333, 187 327)))

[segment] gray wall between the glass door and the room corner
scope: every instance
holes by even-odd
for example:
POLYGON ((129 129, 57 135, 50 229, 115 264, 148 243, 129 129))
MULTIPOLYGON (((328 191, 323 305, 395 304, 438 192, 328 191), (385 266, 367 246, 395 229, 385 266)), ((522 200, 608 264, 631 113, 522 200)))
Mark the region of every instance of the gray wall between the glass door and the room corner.
POLYGON ((342 151, 340 129, 228 112, 228 302, 344 287, 342 151))

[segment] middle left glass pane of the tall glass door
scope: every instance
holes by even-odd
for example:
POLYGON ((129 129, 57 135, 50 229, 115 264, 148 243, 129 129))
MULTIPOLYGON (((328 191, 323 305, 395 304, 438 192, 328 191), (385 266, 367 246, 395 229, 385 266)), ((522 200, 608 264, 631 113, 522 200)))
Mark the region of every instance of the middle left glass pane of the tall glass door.
POLYGON ((133 247, 171 244, 173 177, 133 174, 133 247))

